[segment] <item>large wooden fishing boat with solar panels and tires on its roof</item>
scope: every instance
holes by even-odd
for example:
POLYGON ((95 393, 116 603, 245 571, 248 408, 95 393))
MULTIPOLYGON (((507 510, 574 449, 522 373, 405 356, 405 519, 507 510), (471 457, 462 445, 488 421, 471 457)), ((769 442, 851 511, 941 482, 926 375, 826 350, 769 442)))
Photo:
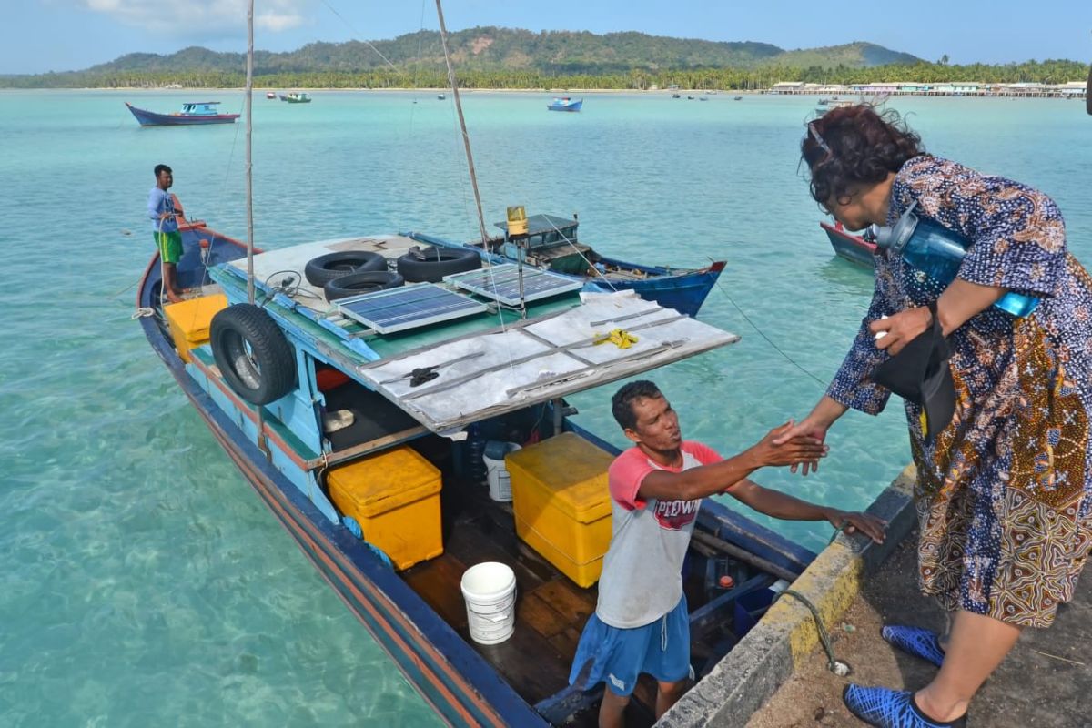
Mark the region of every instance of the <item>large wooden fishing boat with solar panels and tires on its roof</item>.
MULTIPOLYGON (((393 283, 390 266, 428 268, 411 252, 420 241, 395 235, 257 251, 251 305, 245 246, 202 222, 183 218, 179 230, 178 281, 191 298, 163 303, 153 256, 136 299, 151 347, 408 682, 453 726, 594 725, 601 692, 572 690, 567 680, 595 608, 594 553, 567 561, 571 545, 534 533, 546 529, 549 513, 580 533, 598 528, 602 537, 605 527, 608 536, 606 489, 593 489, 600 500, 582 511, 595 511, 594 522, 570 523, 554 501, 532 497, 545 487, 526 475, 532 466, 520 481, 515 453, 508 461, 513 500, 494 500, 482 484, 483 447, 488 440, 522 444, 524 453, 556 447, 543 455, 539 475, 571 470, 573 449, 595 453, 593 469, 605 468, 617 450, 578 423, 566 396, 737 337, 632 293, 581 295, 545 272, 532 273, 556 276, 553 291, 512 307, 502 291, 482 295, 491 266, 328 300, 331 286, 351 288, 339 283, 349 277, 393 283), (339 265, 377 260, 381 270, 370 274, 335 275, 344 273, 339 265), (320 286, 319 273, 333 277, 320 286), (405 291, 412 295, 402 298, 405 291), (613 327, 638 342, 625 350, 593 345, 613 327), (408 481, 420 472, 435 475, 428 487, 408 481), (387 512, 369 515, 363 501, 345 500, 377 488, 382 498, 368 508, 392 503, 387 512), (517 584, 513 631, 497 644, 472 639, 460 592, 464 572, 480 562, 507 564, 517 584)), ((532 288, 543 290, 525 293, 532 288)), ((212 497, 222 484, 206 485, 212 497)), ((749 629, 770 587, 795 578, 814 556, 715 501, 702 503, 685 577, 699 678, 749 629)), ((638 688, 631 725, 651 724, 654 689, 638 688)))

